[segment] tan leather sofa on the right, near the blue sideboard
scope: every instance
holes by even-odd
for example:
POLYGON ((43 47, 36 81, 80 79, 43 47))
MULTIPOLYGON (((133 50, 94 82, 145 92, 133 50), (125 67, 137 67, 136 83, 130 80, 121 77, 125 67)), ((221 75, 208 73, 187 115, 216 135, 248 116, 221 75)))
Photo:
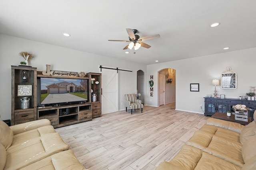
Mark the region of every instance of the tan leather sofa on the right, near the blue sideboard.
POLYGON ((209 118, 170 161, 156 170, 256 170, 254 121, 240 125, 209 118))

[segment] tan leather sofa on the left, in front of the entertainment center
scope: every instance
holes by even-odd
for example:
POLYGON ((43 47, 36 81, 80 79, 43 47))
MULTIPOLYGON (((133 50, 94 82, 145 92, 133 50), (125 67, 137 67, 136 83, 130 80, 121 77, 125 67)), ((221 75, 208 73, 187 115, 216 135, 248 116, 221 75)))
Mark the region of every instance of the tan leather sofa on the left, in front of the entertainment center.
POLYGON ((0 170, 85 170, 48 119, 9 127, 0 120, 0 170))

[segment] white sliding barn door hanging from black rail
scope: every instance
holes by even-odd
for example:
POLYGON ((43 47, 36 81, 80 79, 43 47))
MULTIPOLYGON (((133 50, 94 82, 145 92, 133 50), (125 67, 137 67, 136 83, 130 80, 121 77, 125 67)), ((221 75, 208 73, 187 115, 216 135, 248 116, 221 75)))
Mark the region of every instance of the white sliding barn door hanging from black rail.
POLYGON ((102 68, 102 114, 118 111, 118 73, 102 68))

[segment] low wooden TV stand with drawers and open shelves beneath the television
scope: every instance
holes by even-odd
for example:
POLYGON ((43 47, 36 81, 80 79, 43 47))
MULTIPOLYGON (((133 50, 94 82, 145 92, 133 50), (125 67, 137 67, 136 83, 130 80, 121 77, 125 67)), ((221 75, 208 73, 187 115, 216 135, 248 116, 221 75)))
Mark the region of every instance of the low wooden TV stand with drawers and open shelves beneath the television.
POLYGON ((91 121, 92 104, 39 107, 37 119, 49 119, 54 128, 91 121))

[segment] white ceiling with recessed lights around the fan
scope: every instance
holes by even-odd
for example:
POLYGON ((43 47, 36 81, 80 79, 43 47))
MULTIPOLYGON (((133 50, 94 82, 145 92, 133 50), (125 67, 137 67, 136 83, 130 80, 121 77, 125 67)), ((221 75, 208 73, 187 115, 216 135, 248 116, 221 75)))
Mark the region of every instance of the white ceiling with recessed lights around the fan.
POLYGON ((256 47, 256 0, 0 0, 0 33, 162 63, 256 47), (210 27, 214 22, 220 25, 210 27), (126 28, 138 29, 140 37, 161 37, 144 41, 152 47, 134 54, 123 50, 128 42, 108 41, 128 40, 126 28))

